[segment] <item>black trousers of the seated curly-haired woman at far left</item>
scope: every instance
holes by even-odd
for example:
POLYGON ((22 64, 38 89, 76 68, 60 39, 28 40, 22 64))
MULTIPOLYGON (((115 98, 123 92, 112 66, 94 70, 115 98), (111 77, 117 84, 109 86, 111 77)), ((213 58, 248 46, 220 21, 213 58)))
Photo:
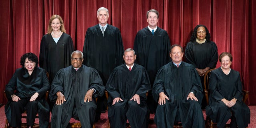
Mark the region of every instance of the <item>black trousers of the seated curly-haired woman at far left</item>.
POLYGON ((37 100, 30 102, 30 98, 22 98, 18 102, 11 102, 10 108, 12 119, 9 121, 11 127, 21 127, 22 113, 27 111, 27 126, 34 126, 36 114, 38 112, 37 100))

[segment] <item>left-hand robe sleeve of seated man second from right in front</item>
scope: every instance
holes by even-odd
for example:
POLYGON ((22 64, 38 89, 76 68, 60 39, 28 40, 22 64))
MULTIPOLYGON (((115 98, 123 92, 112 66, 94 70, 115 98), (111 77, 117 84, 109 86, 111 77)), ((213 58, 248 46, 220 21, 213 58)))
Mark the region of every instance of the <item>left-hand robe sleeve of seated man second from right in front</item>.
POLYGON ((152 95, 156 102, 158 102, 159 93, 165 92, 164 91, 164 78, 165 78, 165 71, 164 71, 164 68, 161 67, 156 74, 156 78, 155 78, 154 85, 152 88, 152 95))

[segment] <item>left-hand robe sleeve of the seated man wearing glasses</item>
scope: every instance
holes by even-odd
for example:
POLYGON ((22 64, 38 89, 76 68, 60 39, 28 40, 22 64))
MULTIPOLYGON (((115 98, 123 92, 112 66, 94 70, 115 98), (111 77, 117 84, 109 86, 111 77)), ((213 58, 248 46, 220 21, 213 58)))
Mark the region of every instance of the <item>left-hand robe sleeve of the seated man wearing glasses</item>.
POLYGON ((56 93, 58 91, 62 92, 62 94, 64 94, 64 89, 63 89, 63 83, 64 83, 64 77, 62 76, 62 70, 59 70, 54 78, 54 80, 52 81, 52 85, 51 85, 51 90, 49 93, 49 99, 51 102, 55 102, 55 100, 57 99, 57 95, 56 93))

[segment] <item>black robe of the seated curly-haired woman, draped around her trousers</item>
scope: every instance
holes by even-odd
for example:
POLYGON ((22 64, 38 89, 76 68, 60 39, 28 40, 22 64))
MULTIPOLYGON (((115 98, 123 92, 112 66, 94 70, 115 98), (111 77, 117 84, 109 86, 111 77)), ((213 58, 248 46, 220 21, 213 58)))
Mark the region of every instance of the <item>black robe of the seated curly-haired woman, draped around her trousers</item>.
POLYGON ((16 69, 5 88, 8 102, 4 108, 8 121, 10 122, 12 118, 10 109, 12 94, 15 94, 22 99, 29 98, 36 92, 38 92, 39 95, 35 101, 38 102, 39 125, 40 128, 48 128, 50 120, 50 108, 47 101, 45 100, 45 93, 49 89, 50 83, 44 69, 40 67, 35 67, 30 76, 26 68, 16 69), (14 93, 14 90, 16 90, 16 93, 14 93))

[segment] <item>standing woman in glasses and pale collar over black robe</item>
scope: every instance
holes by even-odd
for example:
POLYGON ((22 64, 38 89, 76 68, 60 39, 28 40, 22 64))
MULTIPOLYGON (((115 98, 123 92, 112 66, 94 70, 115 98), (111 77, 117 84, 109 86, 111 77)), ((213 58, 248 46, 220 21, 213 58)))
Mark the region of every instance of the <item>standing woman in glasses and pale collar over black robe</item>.
MULTIPOLYGON (((218 49, 214 42, 210 41, 210 33, 206 26, 197 25, 194 28, 190 42, 185 50, 186 62, 192 64, 198 72, 204 89, 205 73, 216 67, 218 62, 218 49)), ((202 100, 202 109, 206 106, 206 98, 202 100)))

